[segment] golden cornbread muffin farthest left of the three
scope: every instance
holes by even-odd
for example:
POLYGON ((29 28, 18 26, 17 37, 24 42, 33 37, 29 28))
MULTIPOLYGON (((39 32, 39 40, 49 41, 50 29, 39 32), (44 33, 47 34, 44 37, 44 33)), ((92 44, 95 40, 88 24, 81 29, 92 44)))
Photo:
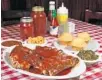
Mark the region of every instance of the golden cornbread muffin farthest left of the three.
POLYGON ((61 45, 65 45, 65 46, 70 46, 71 42, 73 40, 73 36, 70 33, 62 33, 59 37, 58 37, 58 42, 61 45))

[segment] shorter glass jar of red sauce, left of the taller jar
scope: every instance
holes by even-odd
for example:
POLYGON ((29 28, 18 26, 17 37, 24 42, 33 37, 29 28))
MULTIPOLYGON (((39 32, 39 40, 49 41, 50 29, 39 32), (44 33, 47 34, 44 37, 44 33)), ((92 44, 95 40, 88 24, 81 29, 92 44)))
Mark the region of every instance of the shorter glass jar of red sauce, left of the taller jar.
POLYGON ((31 17, 22 17, 20 20, 20 35, 23 40, 34 36, 34 24, 31 17))

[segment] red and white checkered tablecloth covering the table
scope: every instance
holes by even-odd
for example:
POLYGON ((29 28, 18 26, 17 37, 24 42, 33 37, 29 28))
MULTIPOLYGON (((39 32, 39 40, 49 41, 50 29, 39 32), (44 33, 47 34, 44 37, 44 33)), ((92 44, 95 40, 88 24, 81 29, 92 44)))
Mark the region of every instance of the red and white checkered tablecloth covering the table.
MULTIPOLYGON (((99 54, 102 54, 102 27, 74 19, 70 19, 70 21, 76 24, 75 34, 77 32, 87 31, 88 33, 90 33, 92 38, 94 38, 100 43, 100 48, 97 50, 97 52, 99 54)), ((20 32, 19 25, 3 27, 1 28, 2 40, 9 38, 20 39, 19 32, 20 32)), ((46 36, 46 39, 48 40, 47 44, 48 46, 53 46, 53 41, 56 40, 55 37, 51 36, 46 36)), ((1 49, 1 51, 3 51, 3 49, 1 49)), ((1 76, 2 80, 40 80, 32 76, 21 74, 9 68, 3 61, 2 55, 1 55, 1 76)), ((87 67, 86 72, 84 72, 80 76, 80 80, 102 80, 102 61, 87 67)))

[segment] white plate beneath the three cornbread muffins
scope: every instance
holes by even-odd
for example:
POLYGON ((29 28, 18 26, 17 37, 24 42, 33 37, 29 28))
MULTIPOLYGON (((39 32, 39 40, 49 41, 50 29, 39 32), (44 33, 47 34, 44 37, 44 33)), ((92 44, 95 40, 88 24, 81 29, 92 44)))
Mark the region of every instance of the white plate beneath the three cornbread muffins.
MULTIPOLYGON (((69 52, 78 52, 78 51, 74 51, 72 50, 72 47, 71 46, 63 46, 63 45, 60 45, 58 43, 58 41, 55 41, 54 42, 54 46, 58 49, 62 49, 62 50, 68 50, 69 52)), ((87 44, 87 46, 84 48, 84 50, 92 50, 92 51, 96 51, 97 49, 100 48, 100 44, 98 43, 98 41, 96 40, 90 40, 89 43, 87 44)))

